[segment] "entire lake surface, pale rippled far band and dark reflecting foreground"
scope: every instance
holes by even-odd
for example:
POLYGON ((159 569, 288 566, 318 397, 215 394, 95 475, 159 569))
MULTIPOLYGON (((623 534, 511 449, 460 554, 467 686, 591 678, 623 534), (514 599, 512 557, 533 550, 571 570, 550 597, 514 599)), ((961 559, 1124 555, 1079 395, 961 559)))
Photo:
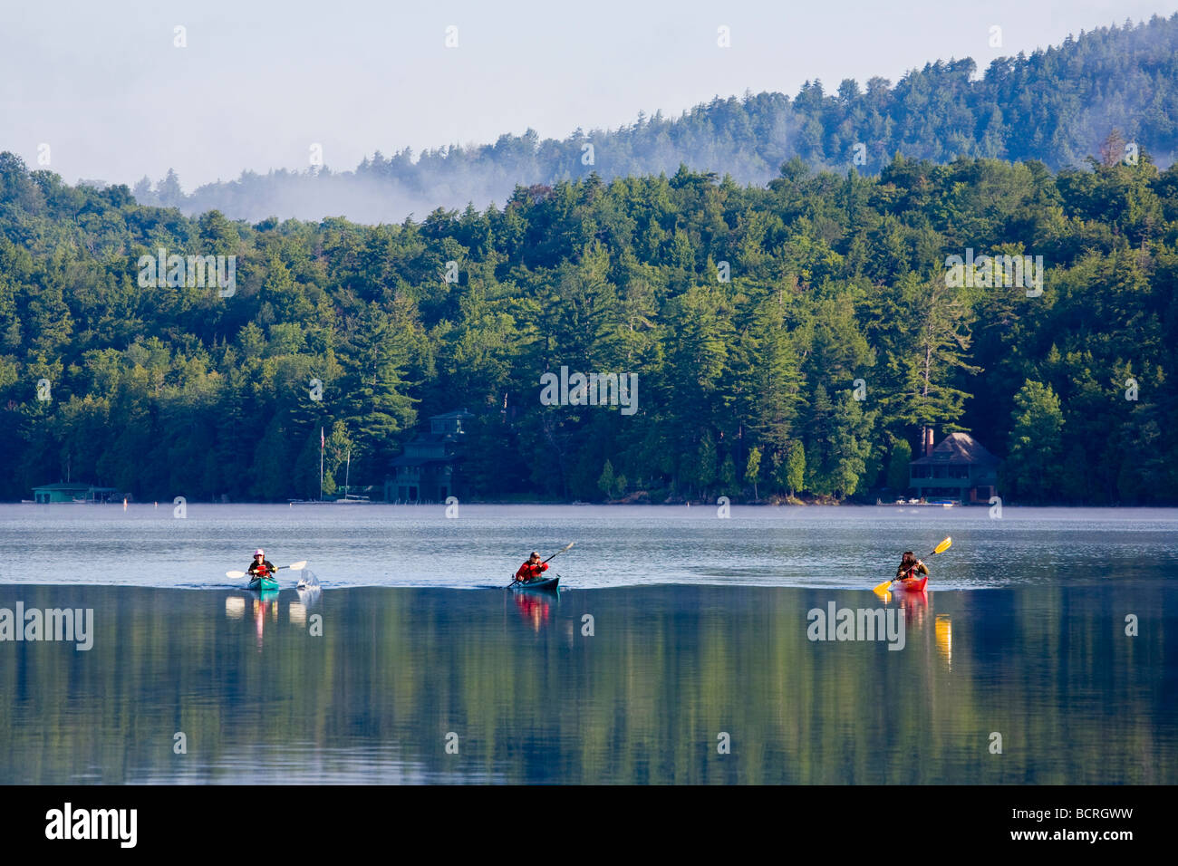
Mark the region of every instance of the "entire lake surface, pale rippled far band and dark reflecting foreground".
POLYGON ((0 782, 1174 784, 1174 529, 1134 510, 0 507, 0 609, 94 610, 88 652, 0 642, 0 782), (869 591, 945 535, 937 589, 869 591), (487 588, 569 541, 558 597, 487 588), (231 588, 258 543, 323 590, 231 588), (808 640, 832 602, 895 612, 904 649, 808 640))

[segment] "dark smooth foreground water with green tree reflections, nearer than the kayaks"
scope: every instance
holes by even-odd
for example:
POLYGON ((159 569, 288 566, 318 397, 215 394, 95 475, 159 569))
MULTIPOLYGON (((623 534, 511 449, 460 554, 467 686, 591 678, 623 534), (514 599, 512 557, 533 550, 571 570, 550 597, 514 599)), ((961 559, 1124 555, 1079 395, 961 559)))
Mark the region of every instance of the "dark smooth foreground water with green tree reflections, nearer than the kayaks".
POLYGON ((309 640, 293 590, 0 586, 95 623, 0 643, 0 782, 1178 782, 1178 581, 909 595, 888 652, 807 637, 865 589, 332 589, 309 640))

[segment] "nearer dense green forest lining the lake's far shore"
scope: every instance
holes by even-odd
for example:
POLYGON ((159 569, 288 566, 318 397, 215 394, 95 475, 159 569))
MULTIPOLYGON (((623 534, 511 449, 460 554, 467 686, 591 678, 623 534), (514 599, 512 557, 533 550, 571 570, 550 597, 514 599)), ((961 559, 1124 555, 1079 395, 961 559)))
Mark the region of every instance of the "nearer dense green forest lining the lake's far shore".
POLYGON ((190 218, 0 154, 0 496, 317 496, 320 425, 330 493, 466 408, 482 498, 873 496, 929 425, 1004 457, 1007 501, 1173 503, 1178 168, 1121 144, 590 176, 378 226, 190 218), (234 256, 232 293, 145 287, 160 247, 234 256), (984 253, 1041 256, 1041 293, 951 278, 984 253), (543 405, 562 365, 637 373, 637 411, 543 405))

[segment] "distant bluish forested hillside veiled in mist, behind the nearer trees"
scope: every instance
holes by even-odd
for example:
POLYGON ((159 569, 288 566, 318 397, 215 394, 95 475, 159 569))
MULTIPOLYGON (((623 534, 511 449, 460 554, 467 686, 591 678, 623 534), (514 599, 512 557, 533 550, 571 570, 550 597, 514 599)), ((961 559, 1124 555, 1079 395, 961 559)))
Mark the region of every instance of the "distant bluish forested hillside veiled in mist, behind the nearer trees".
MULTIPOLYGON (((1081 32, 1031 55, 995 59, 981 75, 968 58, 938 61, 894 86, 878 77, 863 86, 847 79, 829 92, 821 81, 807 81, 793 99, 717 97, 679 118, 640 114, 629 126, 577 130, 563 140, 542 140, 529 130, 494 145, 454 145, 416 158, 404 148, 390 157, 377 152, 355 171, 244 172, 191 194, 170 172, 155 184, 144 178, 133 192, 141 204, 188 214, 219 210, 250 222, 336 214, 401 222, 438 206, 502 203, 516 184, 673 174, 680 164, 755 184, 776 177, 795 156, 840 174, 852 166, 878 174, 895 153, 935 163, 992 157, 1079 167, 1114 127, 1169 165, 1178 150, 1176 106, 1178 15, 1081 32)), ((333 166, 331 154, 325 158, 333 166)))

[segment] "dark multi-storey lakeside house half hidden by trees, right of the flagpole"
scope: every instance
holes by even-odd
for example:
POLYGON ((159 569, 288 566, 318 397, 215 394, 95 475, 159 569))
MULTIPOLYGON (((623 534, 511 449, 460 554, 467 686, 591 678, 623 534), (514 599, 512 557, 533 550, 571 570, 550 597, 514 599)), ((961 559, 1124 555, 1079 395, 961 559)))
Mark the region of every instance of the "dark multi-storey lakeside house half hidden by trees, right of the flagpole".
POLYGON ((459 496, 465 424, 474 417, 465 409, 431 416, 429 431, 418 432, 392 461, 393 477, 385 482, 385 501, 445 502, 448 496, 459 496))

